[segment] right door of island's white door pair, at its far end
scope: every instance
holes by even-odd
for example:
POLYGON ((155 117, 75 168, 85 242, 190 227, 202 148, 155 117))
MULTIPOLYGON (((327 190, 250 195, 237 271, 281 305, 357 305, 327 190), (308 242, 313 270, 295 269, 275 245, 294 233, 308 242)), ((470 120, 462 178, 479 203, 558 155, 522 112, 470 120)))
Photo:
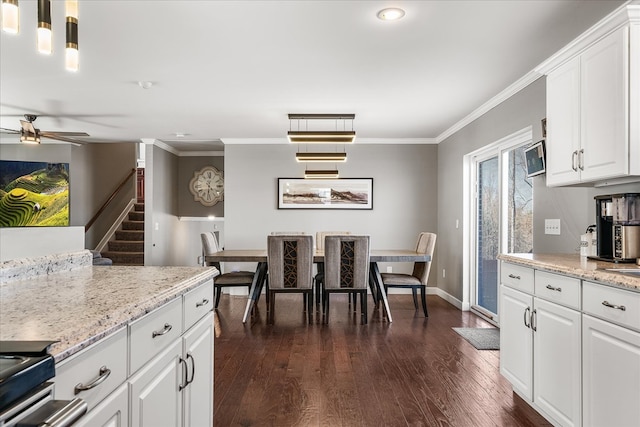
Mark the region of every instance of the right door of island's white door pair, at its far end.
POLYGON ((183 391, 184 426, 213 426, 213 313, 191 328, 183 343, 191 381, 183 391))

